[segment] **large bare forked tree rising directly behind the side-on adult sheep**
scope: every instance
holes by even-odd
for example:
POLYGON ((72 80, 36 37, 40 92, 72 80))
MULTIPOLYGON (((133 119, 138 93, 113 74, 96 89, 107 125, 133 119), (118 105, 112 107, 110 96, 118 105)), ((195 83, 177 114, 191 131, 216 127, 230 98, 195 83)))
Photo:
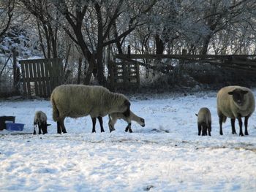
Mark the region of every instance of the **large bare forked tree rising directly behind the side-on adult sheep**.
POLYGON ((96 68, 99 84, 105 85, 106 80, 102 63, 104 47, 120 42, 136 27, 145 24, 141 22, 140 16, 149 12, 156 1, 148 0, 143 4, 139 4, 137 1, 124 0, 54 1, 56 7, 71 26, 72 31, 67 26, 63 25, 63 28, 69 34, 69 37, 80 46, 84 58, 89 63, 85 84, 89 84, 93 69, 96 68), (128 20, 125 18, 127 20, 125 27, 116 26, 116 22, 122 18, 122 14, 127 13, 127 6, 135 6, 133 10, 137 11, 129 14, 128 20), (86 26, 84 26, 85 23, 86 26), (113 28, 118 28, 114 35, 113 28))

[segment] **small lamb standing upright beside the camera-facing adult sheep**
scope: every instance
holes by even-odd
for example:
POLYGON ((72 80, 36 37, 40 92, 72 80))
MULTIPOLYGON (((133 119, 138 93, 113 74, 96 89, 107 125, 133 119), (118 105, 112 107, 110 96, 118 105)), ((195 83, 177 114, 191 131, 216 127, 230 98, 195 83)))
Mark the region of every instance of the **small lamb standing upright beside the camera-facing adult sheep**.
POLYGON ((199 110, 197 115, 197 127, 198 127, 198 135, 202 136, 207 135, 211 136, 211 112, 207 107, 203 107, 199 110))

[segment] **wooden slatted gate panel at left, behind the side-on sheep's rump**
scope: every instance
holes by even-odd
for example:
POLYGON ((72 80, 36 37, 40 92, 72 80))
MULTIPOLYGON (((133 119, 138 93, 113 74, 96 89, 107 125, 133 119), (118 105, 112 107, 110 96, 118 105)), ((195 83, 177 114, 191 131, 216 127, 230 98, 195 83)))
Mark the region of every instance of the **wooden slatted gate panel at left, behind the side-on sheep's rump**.
POLYGON ((47 98, 61 85, 63 66, 61 58, 19 61, 23 77, 23 95, 47 98))

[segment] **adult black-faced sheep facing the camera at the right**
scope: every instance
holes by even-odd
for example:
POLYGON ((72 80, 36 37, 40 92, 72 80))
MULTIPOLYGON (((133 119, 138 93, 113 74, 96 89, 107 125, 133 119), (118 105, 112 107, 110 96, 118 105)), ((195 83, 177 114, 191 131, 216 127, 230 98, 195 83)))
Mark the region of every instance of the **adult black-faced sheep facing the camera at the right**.
POLYGON ((239 136, 244 136, 242 118, 244 117, 245 134, 248 135, 248 119, 255 110, 255 96, 249 88, 241 86, 227 86, 217 93, 217 111, 219 116, 219 134, 222 132, 222 123, 231 119, 232 134, 236 134, 235 121, 239 122, 239 136))

